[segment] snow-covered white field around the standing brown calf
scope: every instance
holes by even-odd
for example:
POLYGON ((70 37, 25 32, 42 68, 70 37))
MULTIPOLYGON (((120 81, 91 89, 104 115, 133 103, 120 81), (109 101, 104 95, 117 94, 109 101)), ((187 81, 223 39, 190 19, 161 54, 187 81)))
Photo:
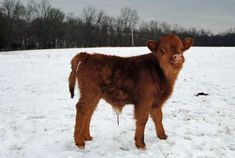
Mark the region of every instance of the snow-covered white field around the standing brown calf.
POLYGON ((120 115, 101 100, 93 115, 94 140, 79 150, 73 141, 76 99, 67 78, 80 51, 120 56, 148 53, 145 47, 0 52, 0 158, 234 158, 235 48, 193 47, 175 90, 164 106, 167 140, 156 137, 149 119, 147 149, 134 145, 133 106, 120 115), (196 97, 199 92, 208 96, 196 97))

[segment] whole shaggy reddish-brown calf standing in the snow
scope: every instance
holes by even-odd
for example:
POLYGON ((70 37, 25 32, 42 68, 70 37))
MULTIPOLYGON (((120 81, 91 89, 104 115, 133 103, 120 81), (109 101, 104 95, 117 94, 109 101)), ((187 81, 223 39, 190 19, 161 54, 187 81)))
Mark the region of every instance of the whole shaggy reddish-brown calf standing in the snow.
POLYGON ((191 38, 181 41, 176 35, 165 35, 159 41, 147 41, 152 53, 141 56, 123 58, 85 52, 77 54, 71 61, 69 76, 72 98, 76 79, 80 88, 75 144, 84 148, 85 141, 92 140, 90 121, 101 98, 119 111, 126 104, 134 104, 137 148, 145 149, 144 129, 149 115, 155 123, 157 136, 166 139, 162 105, 171 95, 184 63, 183 52, 192 44, 191 38))

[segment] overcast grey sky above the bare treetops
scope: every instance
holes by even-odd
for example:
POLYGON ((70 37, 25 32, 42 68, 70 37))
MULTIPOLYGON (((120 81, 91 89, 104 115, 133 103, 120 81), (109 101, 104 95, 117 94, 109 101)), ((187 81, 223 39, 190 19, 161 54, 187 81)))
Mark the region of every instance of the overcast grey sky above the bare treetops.
MULTIPOLYGON (((3 0, 0 0, 3 1, 3 0)), ((26 0, 21 0, 26 1, 26 0)), ((36 0, 38 1, 38 0, 36 0)), ((127 6, 138 12, 140 21, 158 20, 219 33, 235 27, 235 0, 49 0, 52 6, 74 15, 94 7, 118 16, 127 6)))

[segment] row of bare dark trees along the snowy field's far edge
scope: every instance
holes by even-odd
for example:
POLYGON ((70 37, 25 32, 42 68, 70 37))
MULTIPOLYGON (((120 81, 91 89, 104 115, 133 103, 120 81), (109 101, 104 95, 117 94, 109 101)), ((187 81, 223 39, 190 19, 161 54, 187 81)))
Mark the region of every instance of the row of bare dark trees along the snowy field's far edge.
POLYGON ((4 0, 0 4, 0 50, 144 46, 148 39, 175 33, 194 38, 196 46, 235 46, 235 29, 213 34, 166 22, 141 22, 136 10, 125 7, 118 17, 84 8, 79 16, 65 14, 48 1, 4 0))

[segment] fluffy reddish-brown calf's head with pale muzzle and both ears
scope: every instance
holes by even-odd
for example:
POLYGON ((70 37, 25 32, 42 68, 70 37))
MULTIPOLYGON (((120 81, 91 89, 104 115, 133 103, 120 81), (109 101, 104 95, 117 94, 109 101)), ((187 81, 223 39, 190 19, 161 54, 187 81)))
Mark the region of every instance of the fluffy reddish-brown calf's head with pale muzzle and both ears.
POLYGON ((166 75, 179 72, 184 63, 183 53, 192 44, 192 38, 180 40, 173 34, 162 36, 159 41, 147 41, 148 48, 157 57, 160 67, 166 75))

